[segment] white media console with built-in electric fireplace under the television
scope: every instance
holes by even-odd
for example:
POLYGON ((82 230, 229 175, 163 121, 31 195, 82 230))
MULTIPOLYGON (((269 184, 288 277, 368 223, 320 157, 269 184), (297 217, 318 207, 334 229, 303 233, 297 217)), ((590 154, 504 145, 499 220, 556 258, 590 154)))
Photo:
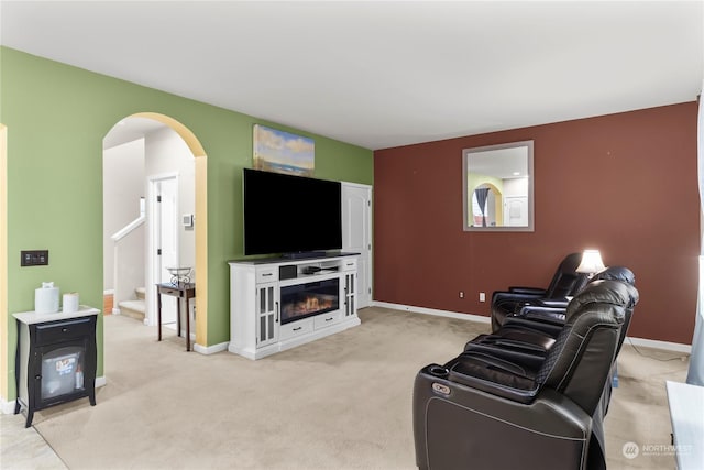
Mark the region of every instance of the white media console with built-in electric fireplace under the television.
POLYGON ((355 253, 228 264, 230 352, 261 359, 360 325, 355 253))

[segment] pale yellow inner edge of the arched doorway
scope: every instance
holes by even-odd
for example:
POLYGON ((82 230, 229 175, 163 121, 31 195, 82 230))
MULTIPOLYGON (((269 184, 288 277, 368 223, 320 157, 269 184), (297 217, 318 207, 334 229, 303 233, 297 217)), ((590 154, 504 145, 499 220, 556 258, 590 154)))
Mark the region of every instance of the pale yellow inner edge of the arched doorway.
MULTIPOLYGON (((194 349, 196 351, 204 352, 207 345, 208 337, 208 212, 207 212, 207 194, 208 194, 208 178, 207 178, 207 155, 202 145, 196 138, 196 135, 184 124, 175 119, 160 114, 155 112, 140 112, 125 117, 122 121, 129 121, 139 119, 144 122, 152 122, 153 124, 163 124, 174 131, 187 145, 194 156, 194 193, 195 193, 195 206, 194 206, 194 220, 195 227, 195 272, 196 275, 196 343, 194 349)), ((118 127, 118 124, 116 124, 118 127)), ((113 129, 116 129, 113 127, 113 129)), ((110 132, 108 133, 110 135, 110 132)), ((107 250, 108 247, 105 247, 107 250)), ((147 267, 145 273, 145 281, 148 283, 152 281, 150 269, 147 267)), ((151 284, 153 285, 153 283, 151 284)), ((147 309, 153 309, 155 305, 154 289, 146 289, 146 305, 147 309)), ((153 314, 153 311, 151 311, 153 314)))

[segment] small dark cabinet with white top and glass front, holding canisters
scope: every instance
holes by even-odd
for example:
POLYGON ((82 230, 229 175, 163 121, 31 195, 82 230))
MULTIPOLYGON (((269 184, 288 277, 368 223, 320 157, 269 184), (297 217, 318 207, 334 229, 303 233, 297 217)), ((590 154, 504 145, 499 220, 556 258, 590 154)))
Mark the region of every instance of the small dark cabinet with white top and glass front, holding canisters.
POLYGON ((88 397, 96 405, 96 321, 99 310, 86 306, 72 314, 14 314, 18 323, 14 413, 34 412, 88 397))

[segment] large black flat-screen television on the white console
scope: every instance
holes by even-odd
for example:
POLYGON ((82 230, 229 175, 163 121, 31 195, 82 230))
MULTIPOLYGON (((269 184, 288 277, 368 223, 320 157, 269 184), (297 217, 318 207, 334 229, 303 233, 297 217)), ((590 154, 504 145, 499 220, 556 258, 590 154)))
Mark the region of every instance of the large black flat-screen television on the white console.
POLYGON ((244 168, 244 254, 342 248, 339 182, 244 168))

